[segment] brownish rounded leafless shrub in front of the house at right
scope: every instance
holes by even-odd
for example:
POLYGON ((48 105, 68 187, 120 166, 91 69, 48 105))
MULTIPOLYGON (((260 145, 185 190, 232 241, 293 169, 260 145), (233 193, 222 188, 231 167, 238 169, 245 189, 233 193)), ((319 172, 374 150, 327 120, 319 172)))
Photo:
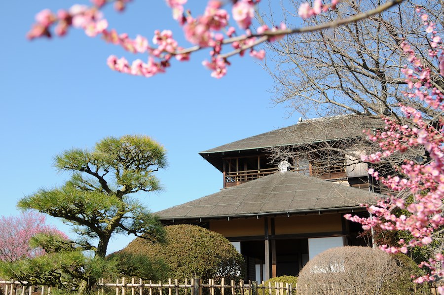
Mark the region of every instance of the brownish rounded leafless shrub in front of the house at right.
MULTIPOLYGON (((320 253, 302 268, 300 294, 394 294, 392 283, 403 269, 386 252, 369 247, 337 247, 320 253)), ((399 294, 409 294, 400 290, 399 294)))

